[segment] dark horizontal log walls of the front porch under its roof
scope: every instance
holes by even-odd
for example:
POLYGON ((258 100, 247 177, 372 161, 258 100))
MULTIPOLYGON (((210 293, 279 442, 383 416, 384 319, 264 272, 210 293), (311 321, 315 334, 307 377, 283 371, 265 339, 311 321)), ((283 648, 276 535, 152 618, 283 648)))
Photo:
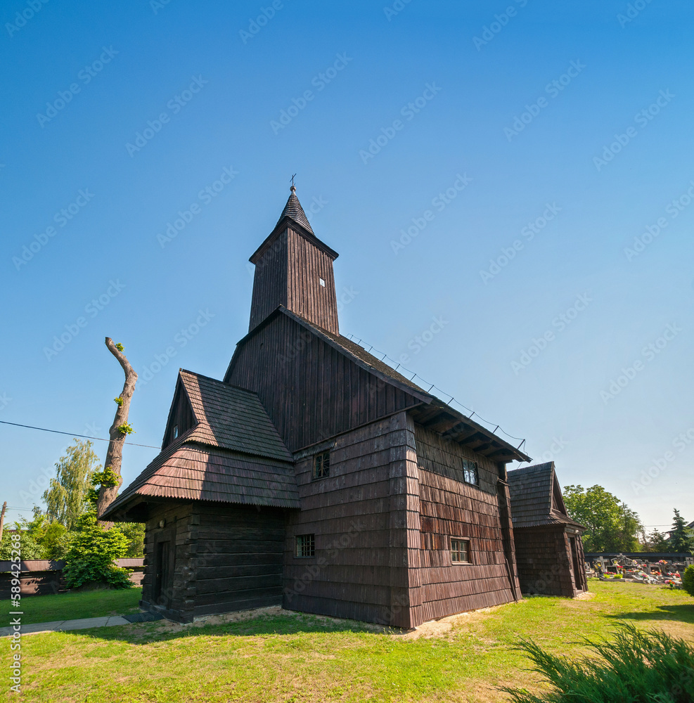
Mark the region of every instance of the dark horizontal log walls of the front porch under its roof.
POLYGON ((282 602, 285 513, 222 503, 168 503, 146 524, 141 605, 181 622, 282 602), (160 520, 165 526, 159 527, 160 520), (153 601, 155 545, 174 535, 173 581, 153 601))

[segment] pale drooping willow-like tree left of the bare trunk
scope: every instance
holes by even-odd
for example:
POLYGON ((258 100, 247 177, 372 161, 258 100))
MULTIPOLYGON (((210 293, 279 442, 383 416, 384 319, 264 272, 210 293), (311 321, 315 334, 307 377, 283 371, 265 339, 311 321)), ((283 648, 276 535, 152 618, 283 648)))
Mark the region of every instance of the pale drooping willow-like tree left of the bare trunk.
POLYGON ((56 469, 57 476, 51 479, 43 495, 46 515, 49 520, 60 522, 71 530, 87 508, 91 475, 101 469, 91 449, 91 441, 75 439, 75 444, 68 447, 65 456, 60 457, 56 469))

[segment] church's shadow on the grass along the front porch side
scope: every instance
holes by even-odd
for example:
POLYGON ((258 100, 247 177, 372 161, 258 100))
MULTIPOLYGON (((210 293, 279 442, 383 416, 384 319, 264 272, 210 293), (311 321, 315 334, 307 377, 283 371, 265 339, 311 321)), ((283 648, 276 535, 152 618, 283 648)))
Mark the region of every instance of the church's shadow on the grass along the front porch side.
POLYGON ((307 614, 297 615, 261 615, 250 620, 229 622, 219 625, 184 625, 170 629, 167 621, 134 623, 115 627, 91 628, 89 630, 71 630, 68 635, 92 637, 100 640, 120 640, 133 645, 146 645, 150 642, 164 642, 184 637, 262 637, 266 635, 298 635, 307 633, 371 633, 374 626, 345 620, 332 621, 307 614))

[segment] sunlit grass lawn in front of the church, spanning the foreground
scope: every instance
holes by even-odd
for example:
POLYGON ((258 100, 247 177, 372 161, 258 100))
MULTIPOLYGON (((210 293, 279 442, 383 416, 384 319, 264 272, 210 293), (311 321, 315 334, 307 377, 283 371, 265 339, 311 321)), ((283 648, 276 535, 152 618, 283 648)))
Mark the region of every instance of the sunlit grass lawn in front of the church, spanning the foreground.
MULTIPOLYGON (((529 598, 463 614, 419 638, 285 613, 34 635, 23 640, 23 692, 11 700, 496 702, 505 699, 498 685, 536 688, 514 647, 522 637, 580 654, 581 638, 609 635, 621 619, 694 640, 694 600, 683 591, 599 581, 590 588, 590 600, 529 598)), ((8 661, 7 640, 0 648, 8 661)))

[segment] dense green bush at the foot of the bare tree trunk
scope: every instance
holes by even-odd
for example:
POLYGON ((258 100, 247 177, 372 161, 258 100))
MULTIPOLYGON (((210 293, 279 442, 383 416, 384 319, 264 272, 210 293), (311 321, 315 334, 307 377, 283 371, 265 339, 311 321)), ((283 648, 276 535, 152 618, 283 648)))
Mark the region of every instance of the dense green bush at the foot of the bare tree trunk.
POLYGON ((113 560, 125 555, 128 538, 118 529, 105 530, 96 520, 96 510, 89 510, 77 521, 77 534, 72 539, 68 563, 63 573, 68 588, 84 583, 103 583, 115 588, 130 588, 127 569, 120 569, 113 560))

